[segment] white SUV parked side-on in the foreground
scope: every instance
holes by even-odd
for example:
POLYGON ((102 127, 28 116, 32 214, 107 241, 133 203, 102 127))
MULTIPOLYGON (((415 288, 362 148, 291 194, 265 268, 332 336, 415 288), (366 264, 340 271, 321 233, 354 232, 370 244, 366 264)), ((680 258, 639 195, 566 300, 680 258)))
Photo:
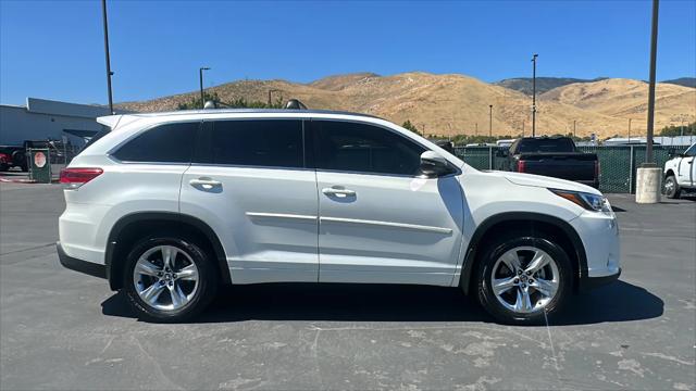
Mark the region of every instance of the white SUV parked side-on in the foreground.
POLYGON ((307 110, 114 115, 61 174, 58 251, 178 321, 220 285, 422 283, 533 324, 616 280, 617 220, 597 190, 480 172, 373 116, 307 110))

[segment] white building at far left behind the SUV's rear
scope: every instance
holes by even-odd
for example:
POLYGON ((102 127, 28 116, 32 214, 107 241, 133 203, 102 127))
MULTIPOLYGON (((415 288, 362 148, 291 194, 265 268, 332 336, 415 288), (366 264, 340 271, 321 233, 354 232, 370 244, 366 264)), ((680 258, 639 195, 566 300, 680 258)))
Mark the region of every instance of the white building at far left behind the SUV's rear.
POLYGON ((109 108, 27 98, 26 106, 0 104, 0 146, 22 146, 25 140, 65 140, 82 146, 101 129, 95 118, 109 108))

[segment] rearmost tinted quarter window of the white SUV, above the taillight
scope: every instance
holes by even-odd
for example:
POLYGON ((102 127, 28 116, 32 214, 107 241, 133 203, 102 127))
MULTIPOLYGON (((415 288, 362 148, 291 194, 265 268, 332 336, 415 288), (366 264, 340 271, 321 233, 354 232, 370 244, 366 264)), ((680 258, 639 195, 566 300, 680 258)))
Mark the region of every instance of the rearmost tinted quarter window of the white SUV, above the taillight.
POLYGON ((200 123, 166 124, 146 130, 113 156, 124 162, 189 163, 200 123))

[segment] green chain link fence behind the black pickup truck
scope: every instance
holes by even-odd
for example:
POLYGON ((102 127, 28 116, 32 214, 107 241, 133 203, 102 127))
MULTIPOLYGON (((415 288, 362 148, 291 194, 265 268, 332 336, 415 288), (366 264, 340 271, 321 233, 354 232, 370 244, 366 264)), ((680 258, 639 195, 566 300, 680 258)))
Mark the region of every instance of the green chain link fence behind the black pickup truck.
MULTIPOLYGON (((599 190, 611 193, 633 193, 635 173, 645 163, 645 146, 577 147, 579 151, 596 153, 599 160, 599 190)), ((455 147, 455 154, 476 169, 502 169, 506 157, 498 157, 498 151, 508 147, 455 147)), ((655 146, 654 159, 658 167, 663 167, 670 159, 670 150, 684 152, 686 147, 655 146)))

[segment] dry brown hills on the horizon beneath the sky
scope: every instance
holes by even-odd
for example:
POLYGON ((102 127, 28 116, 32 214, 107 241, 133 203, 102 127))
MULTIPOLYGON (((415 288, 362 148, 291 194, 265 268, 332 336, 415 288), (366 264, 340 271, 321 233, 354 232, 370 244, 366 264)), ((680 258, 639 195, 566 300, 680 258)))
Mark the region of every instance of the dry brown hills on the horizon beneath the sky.
MULTIPOLYGON (((265 101, 297 98, 312 109, 346 110, 374 114, 397 124, 409 119, 432 135, 488 134, 489 105, 493 104, 494 135, 529 135, 531 98, 522 92, 458 75, 412 72, 393 76, 372 73, 336 75, 310 84, 285 80, 239 80, 209 88, 223 101, 245 98, 265 101)), ((119 106, 144 112, 175 110, 197 91, 119 106)), ((604 79, 571 84, 537 97, 537 134, 572 131, 599 137, 625 135, 627 118, 632 134, 646 128, 647 84, 629 79, 604 79)), ((696 119, 696 89, 658 84, 656 128, 696 119)))

